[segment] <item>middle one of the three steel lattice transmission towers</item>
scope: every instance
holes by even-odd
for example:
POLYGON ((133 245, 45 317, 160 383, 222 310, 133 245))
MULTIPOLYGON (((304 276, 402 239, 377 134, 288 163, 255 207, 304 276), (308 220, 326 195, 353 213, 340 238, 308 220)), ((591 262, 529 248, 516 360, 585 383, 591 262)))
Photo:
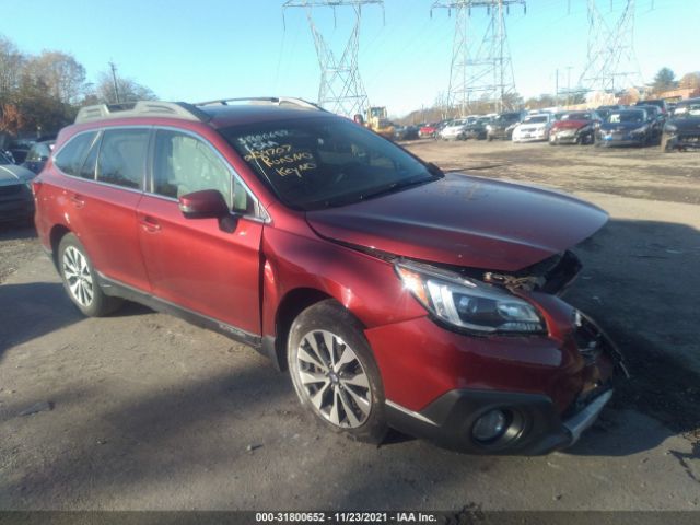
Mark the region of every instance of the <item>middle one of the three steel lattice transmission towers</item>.
POLYGON ((505 31, 505 15, 513 4, 527 9, 525 0, 436 0, 430 9, 431 16, 440 8, 456 13, 447 101, 462 115, 475 103, 492 104, 499 113, 513 104, 515 81, 505 31), (469 27, 474 8, 486 8, 489 18, 480 40, 469 27))

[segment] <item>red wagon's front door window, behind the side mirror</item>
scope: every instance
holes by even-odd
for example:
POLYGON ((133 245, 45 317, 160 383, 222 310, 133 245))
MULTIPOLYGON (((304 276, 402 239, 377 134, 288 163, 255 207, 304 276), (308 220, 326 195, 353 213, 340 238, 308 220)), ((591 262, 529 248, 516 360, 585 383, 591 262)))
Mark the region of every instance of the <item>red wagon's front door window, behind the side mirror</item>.
POLYGON ((208 143, 179 131, 158 130, 152 191, 178 198, 202 189, 219 190, 231 209, 246 212, 252 207, 243 186, 234 188, 234 176, 208 143))

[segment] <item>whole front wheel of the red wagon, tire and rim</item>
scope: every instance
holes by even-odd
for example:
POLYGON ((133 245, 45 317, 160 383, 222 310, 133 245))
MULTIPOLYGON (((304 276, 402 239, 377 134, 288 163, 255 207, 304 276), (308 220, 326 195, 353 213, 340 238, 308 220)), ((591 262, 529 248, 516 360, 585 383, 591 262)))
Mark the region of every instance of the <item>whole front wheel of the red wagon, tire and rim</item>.
POLYGON ((317 420, 358 441, 383 441, 380 369, 362 326, 339 303, 322 301, 294 319, 287 359, 296 395, 317 420))

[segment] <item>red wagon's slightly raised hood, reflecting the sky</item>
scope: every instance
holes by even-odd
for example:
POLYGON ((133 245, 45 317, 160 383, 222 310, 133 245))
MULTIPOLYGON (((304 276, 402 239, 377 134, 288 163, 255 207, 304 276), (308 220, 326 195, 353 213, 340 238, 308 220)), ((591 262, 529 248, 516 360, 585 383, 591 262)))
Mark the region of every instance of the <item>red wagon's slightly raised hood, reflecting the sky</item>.
POLYGON ((515 271, 607 221, 574 197, 463 174, 364 202, 310 211, 323 237, 415 259, 515 271))

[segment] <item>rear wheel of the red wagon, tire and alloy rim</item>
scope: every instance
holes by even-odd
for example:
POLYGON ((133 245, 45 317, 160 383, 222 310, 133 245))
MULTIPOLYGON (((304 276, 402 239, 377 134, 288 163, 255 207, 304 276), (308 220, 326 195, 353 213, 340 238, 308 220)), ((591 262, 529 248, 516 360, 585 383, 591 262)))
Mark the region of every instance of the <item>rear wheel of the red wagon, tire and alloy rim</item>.
POLYGON ((102 317, 121 306, 120 299, 102 291, 84 246, 72 233, 58 245, 58 268, 68 296, 88 317, 102 317))

